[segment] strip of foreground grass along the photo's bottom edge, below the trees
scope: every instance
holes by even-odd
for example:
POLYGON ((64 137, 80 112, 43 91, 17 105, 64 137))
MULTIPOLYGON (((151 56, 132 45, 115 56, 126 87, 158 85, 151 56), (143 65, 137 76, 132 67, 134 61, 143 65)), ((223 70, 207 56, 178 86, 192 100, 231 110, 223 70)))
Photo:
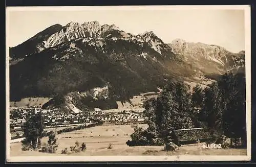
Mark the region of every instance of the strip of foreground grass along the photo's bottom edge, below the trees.
POLYGON ((93 149, 89 147, 84 152, 61 154, 40 153, 36 151, 22 151, 18 143, 11 148, 11 156, 134 156, 134 155, 246 155, 246 149, 203 149, 196 146, 180 147, 176 151, 163 151, 163 146, 136 146, 128 147, 125 145, 113 145, 113 149, 108 149, 108 144, 93 149), (18 149, 19 148, 19 149, 18 149), (14 151, 15 150, 15 151, 14 151))

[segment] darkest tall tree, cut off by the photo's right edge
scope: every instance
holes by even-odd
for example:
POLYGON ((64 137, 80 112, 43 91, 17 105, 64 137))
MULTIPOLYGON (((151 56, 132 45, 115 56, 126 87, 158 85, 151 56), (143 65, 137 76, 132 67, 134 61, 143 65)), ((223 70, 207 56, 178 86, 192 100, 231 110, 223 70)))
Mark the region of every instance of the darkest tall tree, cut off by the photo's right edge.
POLYGON ((246 145, 246 99, 244 74, 225 74, 219 81, 223 96, 223 131, 231 140, 240 138, 246 145))

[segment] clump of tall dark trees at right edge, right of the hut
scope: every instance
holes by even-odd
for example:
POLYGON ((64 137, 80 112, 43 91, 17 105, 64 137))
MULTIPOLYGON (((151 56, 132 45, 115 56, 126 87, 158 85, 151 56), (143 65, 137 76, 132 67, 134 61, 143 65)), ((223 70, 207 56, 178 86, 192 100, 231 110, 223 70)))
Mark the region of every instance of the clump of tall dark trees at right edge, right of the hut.
POLYGON ((246 144, 245 76, 227 73, 204 89, 203 115, 216 137, 246 144))

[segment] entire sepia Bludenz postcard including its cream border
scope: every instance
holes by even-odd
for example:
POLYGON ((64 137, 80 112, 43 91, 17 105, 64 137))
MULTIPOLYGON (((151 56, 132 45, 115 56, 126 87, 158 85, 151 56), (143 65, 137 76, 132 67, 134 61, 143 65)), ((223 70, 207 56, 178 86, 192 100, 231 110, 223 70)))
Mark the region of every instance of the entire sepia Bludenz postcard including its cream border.
POLYGON ((6 8, 6 157, 251 159, 250 6, 6 8))

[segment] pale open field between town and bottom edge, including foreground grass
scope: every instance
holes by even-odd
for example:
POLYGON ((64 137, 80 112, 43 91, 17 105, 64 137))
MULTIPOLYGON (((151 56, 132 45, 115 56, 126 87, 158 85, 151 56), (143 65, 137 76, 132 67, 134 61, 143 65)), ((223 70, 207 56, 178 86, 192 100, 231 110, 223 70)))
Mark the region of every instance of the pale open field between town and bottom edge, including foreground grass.
MULTIPOLYGON (((146 128, 147 125, 138 126, 146 128)), ((67 155, 246 155, 246 149, 203 149, 198 145, 181 146, 175 152, 165 152, 163 151, 163 146, 129 147, 125 142, 131 139, 130 135, 132 133, 133 128, 131 125, 102 125, 58 134, 59 145, 56 154, 22 151, 20 142, 10 145, 10 154, 11 156, 66 156, 61 154, 61 150, 69 149, 70 146, 74 146, 75 142, 78 141, 80 144, 86 142, 87 150, 67 155), (110 143, 113 149, 108 149, 110 143)), ((47 142, 47 140, 47 137, 42 138, 42 143, 47 142)))

